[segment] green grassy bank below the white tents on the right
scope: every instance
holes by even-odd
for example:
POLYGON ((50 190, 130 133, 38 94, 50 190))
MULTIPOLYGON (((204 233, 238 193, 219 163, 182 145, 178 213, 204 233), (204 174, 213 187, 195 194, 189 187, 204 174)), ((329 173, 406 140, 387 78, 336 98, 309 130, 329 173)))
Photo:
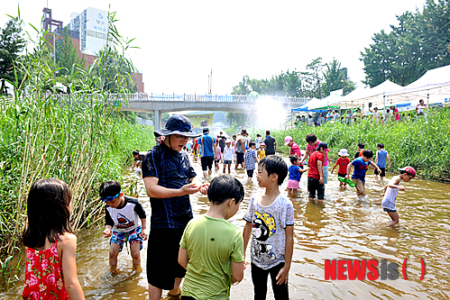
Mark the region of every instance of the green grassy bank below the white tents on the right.
MULTIPOLYGON (((392 168, 412 166, 418 170, 419 177, 450 181, 450 108, 432 110, 427 117, 407 120, 399 123, 375 125, 371 121, 361 121, 351 125, 326 123, 324 126, 294 128, 272 131, 279 146, 290 135, 300 149, 306 149, 306 135, 316 134, 320 141, 326 141, 330 148, 330 157, 338 159, 341 148, 348 150, 353 157, 358 142, 364 142, 367 149, 374 152, 377 144, 382 142, 389 151, 392 168)), ((289 147, 279 150, 289 153, 289 147)))

